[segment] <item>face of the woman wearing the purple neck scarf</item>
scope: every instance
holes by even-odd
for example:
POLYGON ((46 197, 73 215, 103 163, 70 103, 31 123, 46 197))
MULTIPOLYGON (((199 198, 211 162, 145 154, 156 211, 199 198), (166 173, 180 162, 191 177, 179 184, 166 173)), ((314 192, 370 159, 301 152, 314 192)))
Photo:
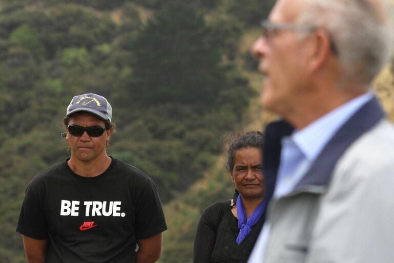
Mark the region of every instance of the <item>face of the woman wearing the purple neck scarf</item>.
POLYGON ((262 168, 261 149, 251 147, 234 152, 234 168, 231 177, 243 198, 264 197, 265 181, 262 168))

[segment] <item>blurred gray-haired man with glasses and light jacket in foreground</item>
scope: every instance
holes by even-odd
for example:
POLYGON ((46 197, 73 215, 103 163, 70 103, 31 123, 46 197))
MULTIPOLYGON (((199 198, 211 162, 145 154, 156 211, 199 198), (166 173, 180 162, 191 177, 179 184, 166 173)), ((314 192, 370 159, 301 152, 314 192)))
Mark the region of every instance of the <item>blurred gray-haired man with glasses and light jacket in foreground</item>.
POLYGON ((264 172, 275 184, 248 262, 393 262, 394 128, 371 81, 387 62, 383 0, 279 0, 252 47, 265 76, 264 172))

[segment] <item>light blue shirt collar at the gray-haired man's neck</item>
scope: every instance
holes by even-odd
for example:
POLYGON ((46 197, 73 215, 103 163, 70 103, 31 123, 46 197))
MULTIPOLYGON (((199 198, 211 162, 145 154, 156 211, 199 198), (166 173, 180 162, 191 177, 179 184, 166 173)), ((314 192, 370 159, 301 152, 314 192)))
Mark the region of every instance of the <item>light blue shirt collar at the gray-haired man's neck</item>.
POLYGON ((338 129, 372 98, 374 95, 367 92, 351 99, 303 129, 296 130, 291 138, 305 158, 314 161, 338 129))

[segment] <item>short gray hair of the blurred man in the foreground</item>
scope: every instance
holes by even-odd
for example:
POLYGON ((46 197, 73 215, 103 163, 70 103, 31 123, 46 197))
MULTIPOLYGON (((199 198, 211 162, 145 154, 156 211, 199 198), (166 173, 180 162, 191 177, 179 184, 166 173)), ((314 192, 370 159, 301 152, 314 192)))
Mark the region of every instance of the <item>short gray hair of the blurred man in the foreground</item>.
POLYGON ((344 81, 365 87, 388 62, 394 23, 388 0, 306 0, 298 24, 327 30, 338 51, 344 81))

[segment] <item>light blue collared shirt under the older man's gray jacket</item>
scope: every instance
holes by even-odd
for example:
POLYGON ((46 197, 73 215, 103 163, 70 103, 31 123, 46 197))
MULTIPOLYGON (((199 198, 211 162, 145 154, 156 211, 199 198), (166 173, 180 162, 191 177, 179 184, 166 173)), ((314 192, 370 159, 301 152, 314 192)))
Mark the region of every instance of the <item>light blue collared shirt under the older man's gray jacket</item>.
MULTIPOLYGON (((278 178, 273 198, 291 193, 302 179, 328 141, 334 137, 340 127, 345 124, 364 104, 374 98, 371 92, 364 93, 339 106, 310 123, 291 136, 282 139, 282 150, 278 178), (292 158, 292 156, 297 156, 292 158), (286 162, 287 161, 287 162, 286 162), (293 172, 289 172, 288 167, 293 172)), ((257 239, 248 263, 260 263, 264 258, 265 246, 268 242, 270 224, 266 222, 257 239)))

